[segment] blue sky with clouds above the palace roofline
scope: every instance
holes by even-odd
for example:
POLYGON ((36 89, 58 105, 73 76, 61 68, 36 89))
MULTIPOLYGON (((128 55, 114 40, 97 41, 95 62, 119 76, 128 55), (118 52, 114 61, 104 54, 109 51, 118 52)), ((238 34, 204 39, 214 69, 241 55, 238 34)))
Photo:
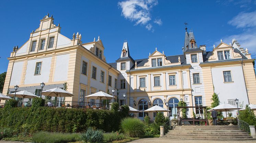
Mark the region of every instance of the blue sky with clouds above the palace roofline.
POLYGON ((103 41, 107 62, 120 56, 124 39, 133 59, 147 58, 155 47, 165 55, 182 54, 185 25, 193 29, 197 45, 211 51, 220 39, 233 38, 256 57, 256 1, 0 1, 0 73, 7 70, 12 48, 21 47, 30 32, 39 27, 47 13, 60 23, 61 34, 72 39, 81 33, 82 41, 94 37, 103 41))

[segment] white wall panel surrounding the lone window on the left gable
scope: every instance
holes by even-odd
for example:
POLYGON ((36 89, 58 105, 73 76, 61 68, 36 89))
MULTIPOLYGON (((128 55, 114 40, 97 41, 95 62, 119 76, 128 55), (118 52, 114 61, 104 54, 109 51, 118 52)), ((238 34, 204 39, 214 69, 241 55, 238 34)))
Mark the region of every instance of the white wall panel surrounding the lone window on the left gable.
POLYGON ((34 60, 27 61, 27 70, 25 75, 24 84, 35 84, 49 81, 50 67, 51 67, 51 58, 39 58, 34 60), (36 62, 42 61, 41 74, 35 74, 36 62))

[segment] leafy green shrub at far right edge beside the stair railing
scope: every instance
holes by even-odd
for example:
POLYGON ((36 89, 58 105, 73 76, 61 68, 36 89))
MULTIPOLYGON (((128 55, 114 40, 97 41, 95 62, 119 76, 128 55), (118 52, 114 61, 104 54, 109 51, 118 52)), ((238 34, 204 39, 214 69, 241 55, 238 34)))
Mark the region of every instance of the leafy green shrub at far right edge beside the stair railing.
POLYGON ((245 106, 245 110, 239 111, 238 118, 240 120, 245 121, 249 125, 256 126, 256 117, 254 115, 254 112, 251 110, 251 108, 248 105, 245 106))

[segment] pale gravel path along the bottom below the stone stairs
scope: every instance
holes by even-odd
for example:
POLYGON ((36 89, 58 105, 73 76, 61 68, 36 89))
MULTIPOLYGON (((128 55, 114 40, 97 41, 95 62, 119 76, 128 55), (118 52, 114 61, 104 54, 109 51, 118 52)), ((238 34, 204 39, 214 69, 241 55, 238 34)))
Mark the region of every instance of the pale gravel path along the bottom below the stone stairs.
POLYGON ((131 143, 256 143, 256 141, 206 141, 206 140, 173 140, 163 138, 144 138, 131 143))

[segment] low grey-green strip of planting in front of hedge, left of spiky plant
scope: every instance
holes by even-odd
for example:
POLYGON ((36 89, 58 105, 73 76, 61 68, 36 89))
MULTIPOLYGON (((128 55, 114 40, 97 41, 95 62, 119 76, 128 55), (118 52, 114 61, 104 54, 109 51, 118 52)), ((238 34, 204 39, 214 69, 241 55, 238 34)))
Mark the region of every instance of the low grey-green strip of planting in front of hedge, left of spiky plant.
POLYGON ((67 143, 79 141, 78 133, 38 132, 32 137, 36 143, 67 143))

